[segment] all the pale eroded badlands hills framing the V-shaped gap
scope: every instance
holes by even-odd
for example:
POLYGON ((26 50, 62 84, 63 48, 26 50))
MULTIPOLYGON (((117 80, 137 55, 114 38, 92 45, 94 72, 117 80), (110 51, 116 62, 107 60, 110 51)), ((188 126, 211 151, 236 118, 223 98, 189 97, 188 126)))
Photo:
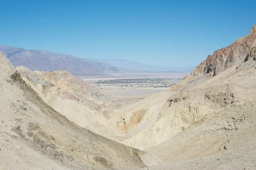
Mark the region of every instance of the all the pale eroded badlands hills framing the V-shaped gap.
POLYGON ((256 168, 256 25, 125 106, 65 70, 15 69, 0 53, 0 71, 5 169, 256 168))

